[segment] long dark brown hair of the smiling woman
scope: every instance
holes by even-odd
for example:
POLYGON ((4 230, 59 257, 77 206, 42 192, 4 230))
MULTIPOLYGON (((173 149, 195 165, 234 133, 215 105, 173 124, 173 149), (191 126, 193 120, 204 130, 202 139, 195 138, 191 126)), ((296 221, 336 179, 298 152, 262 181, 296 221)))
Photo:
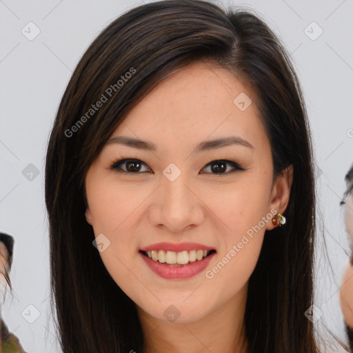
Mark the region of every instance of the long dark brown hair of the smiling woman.
POLYGON ((274 181, 294 166, 287 221, 266 231, 249 281, 245 330, 250 352, 319 352, 312 322, 304 315, 313 303, 312 145, 292 64, 254 14, 203 1, 171 0, 129 10, 99 34, 72 74, 50 134, 45 195, 52 306, 65 353, 142 352, 135 304, 92 245, 94 233, 84 216, 85 174, 134 105, 172 72, 196 61, 228 69, 250 85, 270 139, 274 181), (66 137, 65 130, 130 68, 136 70, 132 77, 66 137))

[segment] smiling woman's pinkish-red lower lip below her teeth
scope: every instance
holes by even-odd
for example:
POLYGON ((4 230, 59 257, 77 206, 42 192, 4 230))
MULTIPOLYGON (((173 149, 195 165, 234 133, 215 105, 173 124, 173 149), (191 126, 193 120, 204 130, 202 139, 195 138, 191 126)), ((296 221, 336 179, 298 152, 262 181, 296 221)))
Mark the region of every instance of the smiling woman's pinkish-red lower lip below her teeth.
POLYGON ((159 263, 159 261, 150 259, 141 252, 139 254, 142 256, 148 267, 163 279, 189 279, 190 277, 196 276, 196 274, 199 274, 205 270, 213 255, 216 253, 214 252, 206 256, 201 261, 196 261, 194 263, 190 263, 189 265, 183 266, 165 265, 165 263, 159 263))

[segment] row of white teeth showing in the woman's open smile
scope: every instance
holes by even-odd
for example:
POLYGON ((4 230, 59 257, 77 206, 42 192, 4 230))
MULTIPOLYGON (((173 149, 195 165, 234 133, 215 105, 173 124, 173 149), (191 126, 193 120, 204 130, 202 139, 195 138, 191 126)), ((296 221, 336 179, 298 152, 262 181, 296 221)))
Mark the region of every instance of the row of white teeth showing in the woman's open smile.
POLYGON ((216 250, 190 250, 182 252, 165 250, 139 250, 139 252, 149 257, 154 262, 161 263, 163 265, 169 265, 172 267, 181 267, 202 261, 206 257, 214 254, 216 250))

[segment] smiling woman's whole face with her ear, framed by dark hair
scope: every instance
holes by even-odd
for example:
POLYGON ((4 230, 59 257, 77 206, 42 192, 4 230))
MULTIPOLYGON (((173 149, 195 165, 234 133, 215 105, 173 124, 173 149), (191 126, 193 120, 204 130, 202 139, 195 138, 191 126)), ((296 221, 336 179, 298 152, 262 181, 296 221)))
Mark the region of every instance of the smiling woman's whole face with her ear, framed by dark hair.
POLYGON ((272 188, 270 141, 254 99, 227 70, 188 65, 128 114, 90 166, 86 215, 99 254, 145 314, 187 323, 244 302, 264 232, 284 212, 292 183, 285 173, 272 188), (114 163, 121 158, 137 161, 114 163), (155 250, 161 263, 141 250, 155 250), (195 261, 199 250, 215 252, 195 261))

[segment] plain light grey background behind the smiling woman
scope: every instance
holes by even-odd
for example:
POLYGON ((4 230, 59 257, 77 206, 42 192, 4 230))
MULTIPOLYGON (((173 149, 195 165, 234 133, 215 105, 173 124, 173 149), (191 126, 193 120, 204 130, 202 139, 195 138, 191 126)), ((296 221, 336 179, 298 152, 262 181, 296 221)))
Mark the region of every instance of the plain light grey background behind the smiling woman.
MULTIPOLYGON (((121 12, 143 2, 0 0, 0 230, 15 238, 14 296, 6 296, 2 316, 27 352, 60 352, 50 312, 43 195, 54 115, 72 70, 94 37, 121 12), (21 32, 35 34, 30 21, 40 30, 31 41, 21 32)), ((348 245, 339 201, 353 162, 353 1, 228 1, 223 6, 228 4, 260 14, 291 53, 299 74, 314 140, 319 197, 315 304, 316 313, 321 310, 323 316, 316 325, 320 329, 325 324, 345 339, 339 286, 348 245)))

